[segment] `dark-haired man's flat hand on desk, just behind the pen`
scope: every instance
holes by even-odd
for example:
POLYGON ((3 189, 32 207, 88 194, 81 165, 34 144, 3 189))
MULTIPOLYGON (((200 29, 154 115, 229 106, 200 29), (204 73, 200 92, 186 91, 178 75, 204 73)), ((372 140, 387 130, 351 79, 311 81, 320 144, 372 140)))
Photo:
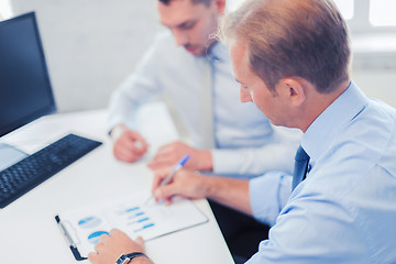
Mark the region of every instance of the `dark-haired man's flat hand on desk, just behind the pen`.
POLYGON ((197 150, 182 142, 173 142, 160 147, 148 167, 154 170, 174 166, 185 155, 189 154, 190 158, 184 166, 191 170, 212 170, 212 157, 210 151, 197 150))

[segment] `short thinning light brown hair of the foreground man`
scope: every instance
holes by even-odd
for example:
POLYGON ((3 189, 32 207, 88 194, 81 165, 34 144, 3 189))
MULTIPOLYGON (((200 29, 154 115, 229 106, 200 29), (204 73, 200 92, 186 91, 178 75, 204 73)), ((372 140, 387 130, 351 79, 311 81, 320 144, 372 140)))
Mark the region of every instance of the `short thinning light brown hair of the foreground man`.
POLYGON ((331 0, 246 0, 219 34, 246 44, 251 70, 273 92, 284 77, 307 79, 322 94, 350 78, 348 29, 331 0))

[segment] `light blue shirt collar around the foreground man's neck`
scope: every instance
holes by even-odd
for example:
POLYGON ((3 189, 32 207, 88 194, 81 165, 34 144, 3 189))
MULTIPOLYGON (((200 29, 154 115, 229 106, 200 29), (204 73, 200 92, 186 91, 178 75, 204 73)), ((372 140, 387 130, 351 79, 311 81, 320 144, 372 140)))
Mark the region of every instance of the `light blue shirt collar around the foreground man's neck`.
POLYGON ((328 148, 340 129, 367 103, 367 98, 351 81, 350 86, 312 123, 302 136, 301 145, 314 165, 328 148))

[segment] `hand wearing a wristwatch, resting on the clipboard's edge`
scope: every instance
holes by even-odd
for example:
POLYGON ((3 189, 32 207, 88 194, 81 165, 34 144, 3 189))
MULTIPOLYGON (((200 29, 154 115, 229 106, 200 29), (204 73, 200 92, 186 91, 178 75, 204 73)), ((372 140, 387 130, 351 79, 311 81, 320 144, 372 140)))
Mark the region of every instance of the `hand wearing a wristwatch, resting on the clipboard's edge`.
MULTIPOLYGON (((113 264, 121 254, 129 254, 132 252, 143 252, 143 240, 138 238, 136 241, 130 239, 124 232, 113 229, 109 235, 100 237, 99 242, 95 245, 96 252, 88 254, 88 260, 94 264, 113 264)), ((136 264, 153 264, 145 256, 138 256, 133 258, 136 264)))

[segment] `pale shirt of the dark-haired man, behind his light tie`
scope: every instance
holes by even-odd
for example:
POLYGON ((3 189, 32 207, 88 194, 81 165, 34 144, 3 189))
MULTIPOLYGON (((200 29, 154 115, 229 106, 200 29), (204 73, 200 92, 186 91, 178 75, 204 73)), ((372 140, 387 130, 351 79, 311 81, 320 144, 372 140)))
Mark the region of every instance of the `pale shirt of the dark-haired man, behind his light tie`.
MULTIPOLYGON (((261 175, 280 169, 292 173, 299 131, 273 127, 253 103, 242 103, 231 73, 228 48, 217 43, 213 63, 213 173, 228 176, 261 175)), ((161 34, 134 74, 116 90, 110 102, 109 128, 124 123, 131 129, 142 103, 166 92, 172 99, 194 146, 200 147, 200 90, 206 57, 197 57, 161 34)), ((144 135, 143 135, 144 136, 144 135)))

